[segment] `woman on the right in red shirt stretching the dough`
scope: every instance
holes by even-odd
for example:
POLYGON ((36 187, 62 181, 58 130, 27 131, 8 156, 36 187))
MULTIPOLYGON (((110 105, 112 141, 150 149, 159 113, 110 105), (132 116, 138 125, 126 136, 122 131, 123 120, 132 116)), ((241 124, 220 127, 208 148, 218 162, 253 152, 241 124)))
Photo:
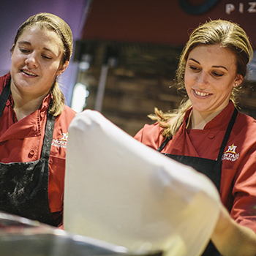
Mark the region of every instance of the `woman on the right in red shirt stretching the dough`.
POLYGON ((256 255, 256 123, 236 110, 236 92, 251 59, 252 47, 240 26, 225 20, 199 26, 177 70, 179 89, 187 97, 178 110, 156 110, 151 118, 157 123, 135 135, 204 173, 219 189, 225 208, 203 255, 256 255))

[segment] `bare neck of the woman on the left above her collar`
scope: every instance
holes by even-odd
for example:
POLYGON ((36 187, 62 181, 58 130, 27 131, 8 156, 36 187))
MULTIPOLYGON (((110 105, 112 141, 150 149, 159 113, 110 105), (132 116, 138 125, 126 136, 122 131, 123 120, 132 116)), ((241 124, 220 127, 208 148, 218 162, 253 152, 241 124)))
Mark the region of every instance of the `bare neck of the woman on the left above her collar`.
POLYGON ((46 95, 33 97, 29 94, 22 94, 12 88, 13 110, 15 110, 18 121, 29 116, 34 111, 38 110, 42 105, 42 101, 46 95))

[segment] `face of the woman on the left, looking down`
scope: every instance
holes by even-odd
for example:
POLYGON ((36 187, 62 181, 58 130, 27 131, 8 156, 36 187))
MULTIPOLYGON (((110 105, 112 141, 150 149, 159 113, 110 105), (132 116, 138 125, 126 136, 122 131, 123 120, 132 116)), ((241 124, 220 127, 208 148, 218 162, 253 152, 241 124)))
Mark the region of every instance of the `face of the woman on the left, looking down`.
POLYGON ((48 94, 62 64, 62 42, 54 31, 31 26, 20 35, 12 52, 11 86, 20 95, 42 97, 48 94))

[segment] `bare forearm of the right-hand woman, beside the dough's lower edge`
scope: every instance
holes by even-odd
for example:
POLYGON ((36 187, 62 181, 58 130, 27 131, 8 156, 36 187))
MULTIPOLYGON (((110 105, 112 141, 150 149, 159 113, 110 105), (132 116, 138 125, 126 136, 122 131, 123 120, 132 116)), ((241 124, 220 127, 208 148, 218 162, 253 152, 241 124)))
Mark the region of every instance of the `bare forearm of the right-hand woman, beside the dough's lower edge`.
POLYGON ((236 223, 222 206, 211 241, 224 256, 255 256, 256 234, 236 223))

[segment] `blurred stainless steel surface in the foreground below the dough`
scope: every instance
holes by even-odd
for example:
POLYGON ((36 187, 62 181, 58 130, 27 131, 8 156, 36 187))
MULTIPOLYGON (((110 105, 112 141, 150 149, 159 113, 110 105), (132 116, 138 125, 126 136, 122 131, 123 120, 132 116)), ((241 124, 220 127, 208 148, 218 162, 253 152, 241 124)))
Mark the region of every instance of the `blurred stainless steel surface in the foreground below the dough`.
POLYGON ((155 255, 57 230, 37 221, 0 212, 0 256, 155 255))

